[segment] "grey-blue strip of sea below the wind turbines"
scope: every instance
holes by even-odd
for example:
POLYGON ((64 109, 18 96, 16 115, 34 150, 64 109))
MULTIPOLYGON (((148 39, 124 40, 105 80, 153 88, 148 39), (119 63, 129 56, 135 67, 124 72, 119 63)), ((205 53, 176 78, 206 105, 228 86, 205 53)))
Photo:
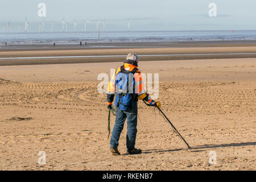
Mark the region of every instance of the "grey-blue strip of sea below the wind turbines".
POLYGON ((6 32, 0 46, 32 44, 143 43, 220 40, 256 40, 256 30, 126 31, 126 32, 6 32))

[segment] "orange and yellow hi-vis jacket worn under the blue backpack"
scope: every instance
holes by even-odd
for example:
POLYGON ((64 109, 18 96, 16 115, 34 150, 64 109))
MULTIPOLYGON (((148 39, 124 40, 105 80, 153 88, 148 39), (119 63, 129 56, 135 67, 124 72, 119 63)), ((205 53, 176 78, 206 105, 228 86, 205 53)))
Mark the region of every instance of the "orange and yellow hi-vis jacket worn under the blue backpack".
MULTIPOLYGON (((127 71, 133 71, 134 68, 138 69, 138 65, 136 63, 136 61, 132 61, 132 60, 127 60, 124 62, 123 67, 125 70, 127 71)), ((109 81, 109 86, 108 86, 108 92, 107 92, 107 103, 108 105, 112 105, 112 102, 114 100, 114 94, 115 94, 115 77, 117 76, 117 74, 121 71, 121 67, 119 67, 112 75, 112 77, 110 78, 109 81)), ((143 80, 142 80, 142 75, 141 72, 139 72, 139 70, 137 70, 137 72, 134 73, 134 81, 135 81, 135 94, 137 94, 138 96, 140 96, 143 93, 146 93, 146 90, 144 89, 144 84, 143 84, 143 80)), ((148 102, 151 102, 151 98, 150 96, 148 96, 147 94, 147 98, 145 99, 148 102)))

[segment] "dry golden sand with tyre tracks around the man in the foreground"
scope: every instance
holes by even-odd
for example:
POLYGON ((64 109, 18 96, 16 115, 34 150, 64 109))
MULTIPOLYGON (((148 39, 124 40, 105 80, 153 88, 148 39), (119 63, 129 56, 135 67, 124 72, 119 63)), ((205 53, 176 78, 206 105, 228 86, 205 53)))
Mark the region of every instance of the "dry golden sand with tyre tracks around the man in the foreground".
MULTIPOLYGON (((106 94, 97 75, 116 63, 0 67, 0 170, 255 170, 256 59, 142 61, 159 73, 158 111, 139 102, 136 147, 109 151, 106 94), (38 152, 46 152, 44 166, 38 152), (217 164, 209 166, 209 151, 217 164)), ((114 117, 111 118, 111 129, 114 117)))

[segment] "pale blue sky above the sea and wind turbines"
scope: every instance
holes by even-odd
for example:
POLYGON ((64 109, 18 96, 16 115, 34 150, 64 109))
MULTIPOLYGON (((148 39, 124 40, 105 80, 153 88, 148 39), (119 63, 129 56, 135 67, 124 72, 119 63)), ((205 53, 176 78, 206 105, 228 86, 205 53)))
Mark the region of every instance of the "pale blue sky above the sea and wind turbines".
MULTIPOLYGON (((41 22, 38 4, 46 3, 46 18, 59 23, 63 17, 78 23, 82 19, 106 20, 106 31, 127 30, 256 30, 255 0, 0 0, 0 21, 41 22), (209 3, 216 3, 217 17, 208 16, 209 3)), ((57 24, 60 26, 60 24, 57 24)), ((96 23, 88 23, 94 30, 96 23)), ((102 26, 102 25, 101 25, 102 26)), ((36 28, 36 26, 35 26, 36 28)))

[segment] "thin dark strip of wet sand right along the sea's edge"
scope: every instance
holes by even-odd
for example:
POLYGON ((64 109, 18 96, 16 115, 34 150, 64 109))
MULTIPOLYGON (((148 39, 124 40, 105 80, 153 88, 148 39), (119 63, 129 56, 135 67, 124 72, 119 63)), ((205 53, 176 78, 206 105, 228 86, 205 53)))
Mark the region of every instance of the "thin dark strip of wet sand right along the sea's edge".
POLYGON ((0 46, 0 51, 15 51, 15 49, 104 49, 129 47, 240 47, 256 46, 256 40, 205 40, 205 41, 173 41, 173 42, 117 42, 117 43, 90 43, 77 41, 76 44, 7 44, 0 46))

